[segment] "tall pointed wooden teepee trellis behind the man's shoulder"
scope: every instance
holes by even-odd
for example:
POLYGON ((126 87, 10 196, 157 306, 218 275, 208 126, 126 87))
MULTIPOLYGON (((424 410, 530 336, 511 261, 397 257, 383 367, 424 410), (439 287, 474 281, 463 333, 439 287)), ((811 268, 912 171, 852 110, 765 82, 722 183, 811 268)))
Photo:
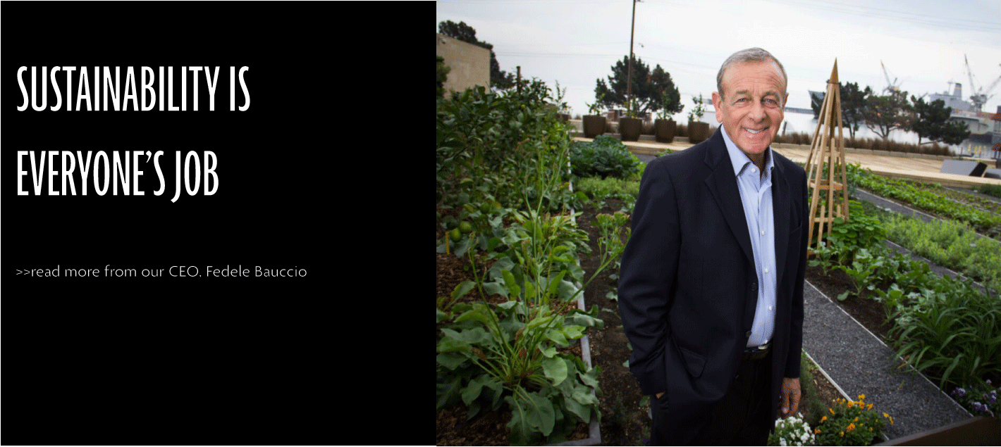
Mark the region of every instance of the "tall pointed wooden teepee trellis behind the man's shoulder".
MULTIPOLYGON (((824 105, 820 109, 820 119, 814 132, 813 143, 810 145, 810 155, 807 164, 807 182, 813 190, 810 197, 810 231, 809 244, 813 245, 815 231, 816 240, 824 239, 826 233, 831 234, 834 219, 841 217, 848 220, 848 188, 845 173, 845 138, 841 126, 841 88, 838 83, 838 60, 834 60, 831 79, 827 81, 827 93, 824 95, 824 105), (837 131, 837 136, 835 136, 837 131), (826 169, 825 169, 826 168, 826 169), (821 191, 825 191, 821 195, 821 191), (835 192, 839 192, 840 195, 835 192), (821 204, 820 201, 825 203, 821 204), (816 224, 820 225, 816 225, 816 224)), ((818 244, 819 245, 819 244, 818 244)), ((812 250, 811 250, 812 252, 812 250)))

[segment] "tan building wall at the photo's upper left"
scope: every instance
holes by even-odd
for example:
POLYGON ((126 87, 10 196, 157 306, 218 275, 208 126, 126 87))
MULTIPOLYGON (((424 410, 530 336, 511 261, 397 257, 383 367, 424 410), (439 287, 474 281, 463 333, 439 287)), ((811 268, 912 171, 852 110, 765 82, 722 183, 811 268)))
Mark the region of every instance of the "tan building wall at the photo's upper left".
POLYGON ((451 90, 458 92, 481 85, 490 87, 490 50, 458 39, 434 33, 434 50, 451 68, 444 82, 445 97, 451 90))

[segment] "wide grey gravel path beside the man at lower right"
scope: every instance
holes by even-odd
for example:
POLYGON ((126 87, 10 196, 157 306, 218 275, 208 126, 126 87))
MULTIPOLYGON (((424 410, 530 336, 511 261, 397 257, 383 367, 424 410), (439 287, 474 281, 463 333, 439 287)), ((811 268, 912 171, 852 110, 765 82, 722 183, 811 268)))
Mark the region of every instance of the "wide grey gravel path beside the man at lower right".
POLYGON ((972 417, 923 375, 907 366, 898 369, 893 349, 809 283, 803 349, 849 399, 864 394, 873 410, 893 417, 885 430, 888 439, 972 417))

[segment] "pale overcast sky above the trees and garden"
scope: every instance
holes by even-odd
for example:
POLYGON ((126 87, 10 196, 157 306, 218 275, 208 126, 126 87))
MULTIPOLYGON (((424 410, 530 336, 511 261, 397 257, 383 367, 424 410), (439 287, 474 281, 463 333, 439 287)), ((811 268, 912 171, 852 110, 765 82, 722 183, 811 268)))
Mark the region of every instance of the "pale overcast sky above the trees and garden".
MULTIPOLYGON (((437 24, 465 22, 493 45, 500 69, 567 88, 572 113, 586 114, 598 78, 629 54, 631 0, 438 0, 437 24)), ((808 90, 826 90, 834 61, 840 80, 883 90, 887 78, 910 94, 942 93, 949 82, 972 93, 1001 77, 999 0, 643 0, 636 4, 634 52, 660 64, 682 94, 709 97, 730 54, 762 47, 789 75, 789 107, 810 108, 808 90), (870 7, 870 5, 878 5, 870 7), (882 63, 882 65, 881 65, 882 63)), ((996 112, 1001 82, 984 106, 996 112)), ((704 121, 715 124, 715 117, 704 121)))

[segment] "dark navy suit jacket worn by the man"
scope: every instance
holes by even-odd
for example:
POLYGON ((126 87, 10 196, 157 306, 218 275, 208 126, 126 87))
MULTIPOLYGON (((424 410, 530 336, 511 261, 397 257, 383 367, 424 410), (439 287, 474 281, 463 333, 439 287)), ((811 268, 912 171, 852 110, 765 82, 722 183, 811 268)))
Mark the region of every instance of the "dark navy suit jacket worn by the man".
MULTIPOLYGON (((778 269, 772 336, 772 413, 782 378, 799 377, 807 250, 803 168, 772 151, 778 269)), ((758 299, 751 237, 733 164, 717 130, 647 165, 622 258, 619 308, 633 347, 630 370, 686 443, 708 405, 726 394, 758 299)))

